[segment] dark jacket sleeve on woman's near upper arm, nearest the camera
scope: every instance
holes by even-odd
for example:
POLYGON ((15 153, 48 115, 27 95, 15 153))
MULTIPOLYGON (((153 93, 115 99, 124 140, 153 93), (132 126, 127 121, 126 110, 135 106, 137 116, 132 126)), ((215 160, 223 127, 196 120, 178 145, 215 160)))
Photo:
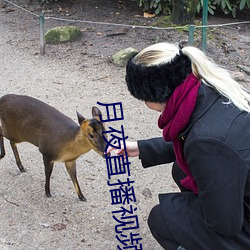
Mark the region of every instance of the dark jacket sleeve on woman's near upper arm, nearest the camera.
POLYGON ((192 138, 184 154, 197 182, 205 223, 224 236, 235 236, 243 226, 244 189, 248 166, 226 142, 192 138))

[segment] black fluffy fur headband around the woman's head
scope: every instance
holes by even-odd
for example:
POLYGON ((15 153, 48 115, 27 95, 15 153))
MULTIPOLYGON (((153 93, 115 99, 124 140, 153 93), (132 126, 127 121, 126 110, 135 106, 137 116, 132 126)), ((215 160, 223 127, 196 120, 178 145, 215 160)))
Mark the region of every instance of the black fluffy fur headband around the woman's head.
POLYGON ((165 103, 192 71, 190 59, 182 52, 171 62, 154 66, 135 64, 134 56, 126 66, 126 83, 131 95, 142 101, 165 103))

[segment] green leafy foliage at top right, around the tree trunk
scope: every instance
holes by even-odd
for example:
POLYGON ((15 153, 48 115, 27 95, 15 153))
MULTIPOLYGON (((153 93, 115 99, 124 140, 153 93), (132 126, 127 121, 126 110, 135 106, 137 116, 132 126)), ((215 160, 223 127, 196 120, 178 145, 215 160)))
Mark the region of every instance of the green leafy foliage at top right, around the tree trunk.
MULTIPOLYGON (((156 15, 163 13, 171 14, 172 3, 174 0, 136 0, 140 7, 146 11, 154 11, 156 15)), ((187 0, 193 1, 193 0, 187 0)), ((197 13, 200 13, 203 7, 203 1, 199 0, 197 4, 197 13)), ((208 12, 214 15, 217 7, 220 7, 224 14, 231 14, 236 17, 236 12, 245 8, 250 9, 250 0, 208 0, 208 12)))

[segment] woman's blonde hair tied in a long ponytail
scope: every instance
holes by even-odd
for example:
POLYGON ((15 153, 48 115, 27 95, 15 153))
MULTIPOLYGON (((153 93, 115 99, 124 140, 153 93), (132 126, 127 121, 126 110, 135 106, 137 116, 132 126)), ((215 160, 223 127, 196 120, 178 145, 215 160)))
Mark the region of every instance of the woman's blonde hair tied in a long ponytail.
POLYGON ((227 70, 215 64, 195 47, 187 46, 180 51, 176 44, 157 43, 138 53, 134 62, 145 66, 160 65, 170 62, 180 53, 190 59, 192 72, 196 77, 228 99, 225 104, 233 103, 238 109, 250 113, 250 94, 231 77, 227 70))

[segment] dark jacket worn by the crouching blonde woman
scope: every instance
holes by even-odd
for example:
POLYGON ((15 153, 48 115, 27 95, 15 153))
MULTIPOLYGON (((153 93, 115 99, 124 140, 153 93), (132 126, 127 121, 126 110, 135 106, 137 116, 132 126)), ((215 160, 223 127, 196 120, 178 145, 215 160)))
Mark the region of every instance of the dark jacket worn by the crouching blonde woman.
MULTIPOLYGON (((199 194, 178 194, 183 197, 179 205, 184 207, 185 200, 190 221, 184 226, 200 235, 201 249, 250 249, 250 114, 225 102, 212 88, 201 85, 189 125, 179 136, 199 194)), ((138 145, 144 167, 175 160, 172 144, 163 138, 138 145)), ((176 195, 160 195, 164 213, 176 195)))

